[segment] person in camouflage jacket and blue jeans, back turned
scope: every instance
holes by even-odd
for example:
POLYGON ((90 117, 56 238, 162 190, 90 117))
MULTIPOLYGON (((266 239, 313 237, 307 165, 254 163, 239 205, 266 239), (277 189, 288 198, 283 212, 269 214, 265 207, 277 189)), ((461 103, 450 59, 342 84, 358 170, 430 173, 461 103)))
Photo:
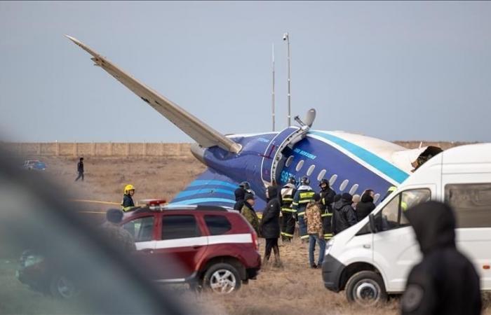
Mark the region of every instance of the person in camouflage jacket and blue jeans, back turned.
POLYGON ((307 224, 307 234, 309 235, 309 262, 311 268, 321 267, 324 260, 325 240, 321 218, 321 196, 314 195, 314 200, 307 204, 305 209, 305 223, 307 224), (314 263, 314 251, 316 242, 319 244, 319 255, 317 265, 314 263))

